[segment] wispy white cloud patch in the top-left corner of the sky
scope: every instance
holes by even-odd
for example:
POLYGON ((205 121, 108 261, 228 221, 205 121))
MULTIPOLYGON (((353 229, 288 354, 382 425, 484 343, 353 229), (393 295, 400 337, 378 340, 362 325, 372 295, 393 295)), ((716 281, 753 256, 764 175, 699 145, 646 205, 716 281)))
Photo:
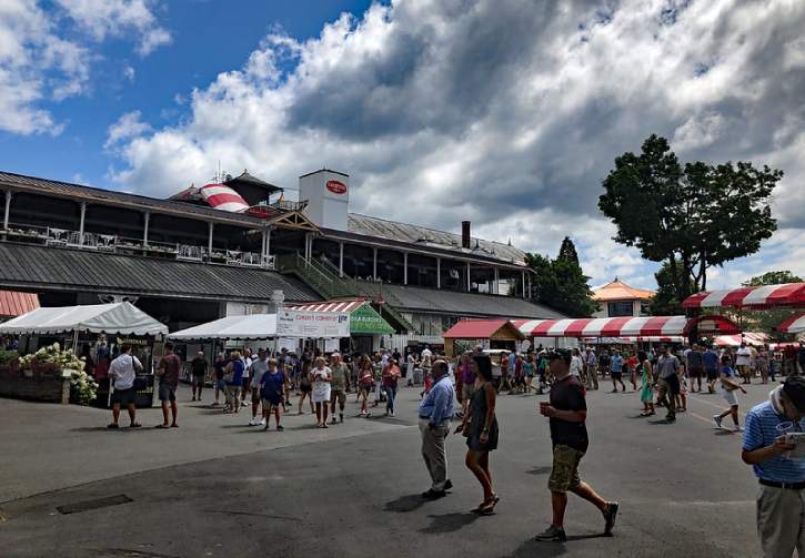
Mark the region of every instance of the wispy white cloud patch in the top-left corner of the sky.
MULTIPOLYGON (((46 105, 90 90, 91 45, 67 33, 74 21, 93 40, 140 34, 138 52, 147 54, 170 42, 143 0, 58 0, 60 10, 44 10, 37 0, 0 0, 0 131, 58 134, 46 105), (66 38, 69 37, 69 38, 66 38)), ((133 69, 124 71, 133 79, 133 69)))

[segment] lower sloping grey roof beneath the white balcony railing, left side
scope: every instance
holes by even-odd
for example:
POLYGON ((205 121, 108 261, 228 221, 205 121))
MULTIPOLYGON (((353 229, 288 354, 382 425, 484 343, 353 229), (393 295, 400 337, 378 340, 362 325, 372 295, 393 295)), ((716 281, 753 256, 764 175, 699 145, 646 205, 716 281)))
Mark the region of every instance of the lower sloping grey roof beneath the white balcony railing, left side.
POLYGON ((282 290, 289 302, 319 300, 271 271, 11 243, 0 244, 0 286, 251 303, 282 290))

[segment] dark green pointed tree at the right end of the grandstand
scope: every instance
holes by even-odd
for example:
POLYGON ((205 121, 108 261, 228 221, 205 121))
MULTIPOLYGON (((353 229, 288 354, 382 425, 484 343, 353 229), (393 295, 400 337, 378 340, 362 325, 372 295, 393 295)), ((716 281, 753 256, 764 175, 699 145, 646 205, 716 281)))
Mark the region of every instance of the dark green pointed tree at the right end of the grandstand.
POLYGON ((572 317, 590 316, 597 310, 573 241, 565 237, 556 260, 542 254, 526 254, 534 270, 530 297, 572 317))

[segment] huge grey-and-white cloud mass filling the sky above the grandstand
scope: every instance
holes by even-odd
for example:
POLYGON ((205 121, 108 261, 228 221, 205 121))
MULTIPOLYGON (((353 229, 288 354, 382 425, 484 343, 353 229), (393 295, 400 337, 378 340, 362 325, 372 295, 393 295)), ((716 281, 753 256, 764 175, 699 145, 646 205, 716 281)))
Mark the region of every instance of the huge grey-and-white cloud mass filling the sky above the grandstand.
POLYGON ((805 227, 803 26, 789 0, 374 4, 306 41, 270 33, 179 125, 122 144, 114 179, 168 195, 220 160, 293 187, 324 164, 351 173, 352 211, 471 219, 552 254, 570 234, 595 283, 651 286, 656 266, 596 209, 613 159, 651 133, 683 160, 781 165, 778 236, 805 227))

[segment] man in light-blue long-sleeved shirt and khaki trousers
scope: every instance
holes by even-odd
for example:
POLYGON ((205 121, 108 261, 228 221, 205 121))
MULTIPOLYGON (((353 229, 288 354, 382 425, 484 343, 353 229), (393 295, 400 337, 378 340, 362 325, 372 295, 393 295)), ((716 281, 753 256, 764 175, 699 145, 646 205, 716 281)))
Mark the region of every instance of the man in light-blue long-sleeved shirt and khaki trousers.
POLYGON ((450 417, 453 416, 453 383, 447 374, 447 363, 441 358, 431 371, 434 384, 420 403, 420 433, 422 434, 422 458, 431 475, 431 488, 422 494, 429 500, 445 496, 453 487, 447 478, 447 456, 444 438, 450 433, 450 417))

